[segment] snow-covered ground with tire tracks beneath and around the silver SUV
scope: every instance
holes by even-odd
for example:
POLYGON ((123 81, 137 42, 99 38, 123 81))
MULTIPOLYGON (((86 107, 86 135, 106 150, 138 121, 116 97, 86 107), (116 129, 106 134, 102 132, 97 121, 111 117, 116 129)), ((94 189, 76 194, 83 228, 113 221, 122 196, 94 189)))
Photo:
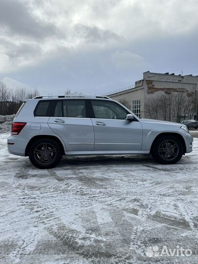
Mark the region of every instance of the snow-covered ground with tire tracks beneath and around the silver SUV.
POLYGON ((7 152, 7 136, 0 134, 0 264, 198 262, 198 138, 175 165, 89 156, 39 170, 7 152), (148 257, 154 245, 192 255, 148 257))

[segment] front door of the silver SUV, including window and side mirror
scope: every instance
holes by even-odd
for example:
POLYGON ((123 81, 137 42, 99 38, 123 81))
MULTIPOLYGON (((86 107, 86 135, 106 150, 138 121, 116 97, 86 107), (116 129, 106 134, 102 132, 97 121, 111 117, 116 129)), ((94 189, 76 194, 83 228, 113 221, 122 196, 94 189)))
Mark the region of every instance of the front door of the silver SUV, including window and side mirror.
POLYGON ((91 100, 95 134, 94 151, 134 151, 142 147, 142 126, 138 120, 127 121, 130 113, 108 100, 91 100))

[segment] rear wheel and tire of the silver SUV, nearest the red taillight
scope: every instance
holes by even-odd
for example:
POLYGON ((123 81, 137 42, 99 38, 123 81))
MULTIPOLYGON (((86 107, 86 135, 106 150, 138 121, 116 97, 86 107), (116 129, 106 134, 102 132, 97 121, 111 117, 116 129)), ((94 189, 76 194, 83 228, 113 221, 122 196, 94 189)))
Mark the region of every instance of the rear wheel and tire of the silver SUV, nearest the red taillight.
POLYGON ((31 163, 39 169, 54 168, 61 158, 61 146, 53 139, 36 140, 29 150, 31 163))

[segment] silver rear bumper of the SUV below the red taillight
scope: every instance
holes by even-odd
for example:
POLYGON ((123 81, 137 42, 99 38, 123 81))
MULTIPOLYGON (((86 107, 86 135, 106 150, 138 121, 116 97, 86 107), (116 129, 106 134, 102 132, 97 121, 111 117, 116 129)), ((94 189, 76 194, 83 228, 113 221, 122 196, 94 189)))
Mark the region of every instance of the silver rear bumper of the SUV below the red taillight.
POLYGON ((28 139, 20 135, 10 135, 7 139, 7 143, 8 152, 10 154, 18 156, 25 155, 25 149, 28 143, 28 139), (12 143, 12 145, 9 145, 9 143, 12 143))

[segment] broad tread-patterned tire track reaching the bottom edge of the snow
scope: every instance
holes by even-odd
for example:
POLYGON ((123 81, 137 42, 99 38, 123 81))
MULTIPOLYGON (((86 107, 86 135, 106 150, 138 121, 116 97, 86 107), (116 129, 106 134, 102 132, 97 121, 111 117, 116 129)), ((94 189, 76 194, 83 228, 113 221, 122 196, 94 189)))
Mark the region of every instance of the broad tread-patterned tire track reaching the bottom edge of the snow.
MULTIPOLYGON (((93 233, 82 233, 79 230, 73 229, 63 222, 58 222, 55 225, 47 226, 45 230, 62 242, 69 250, 75 254, 87 259, 90 263, 115 263, 119 258, 122 262, 126 258, 125 252, 120 247, 113 247, 112 243, 101 237, 96 237, 93 233), (103 262, 101 260, 104 260, 103 262), (111 262, 112 260, 112 262, 111 262)), ((115 242, 117 244, 117 242, 115 242)), ((127 258, 129 255, 127 255, 127 258)))

